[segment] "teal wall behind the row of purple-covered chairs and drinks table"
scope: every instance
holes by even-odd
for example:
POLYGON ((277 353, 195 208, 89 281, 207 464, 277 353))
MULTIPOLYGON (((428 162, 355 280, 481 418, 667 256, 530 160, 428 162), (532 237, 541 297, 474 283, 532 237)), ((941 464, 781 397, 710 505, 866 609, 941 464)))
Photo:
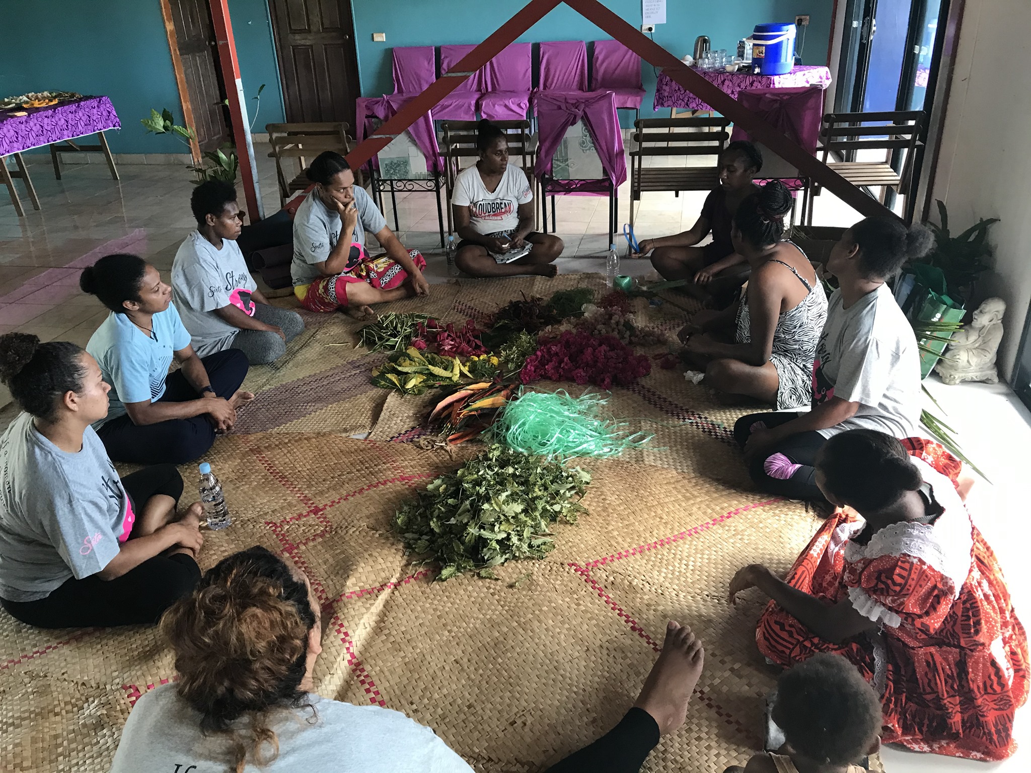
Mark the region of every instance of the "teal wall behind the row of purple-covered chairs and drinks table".
MULTIPOLYGON (((640 0, 602 0, 603 4, 639 29, 640 0)), ((655 40, 683 57, 691 54, 695 38, 708 35, 713 48, 736 52, 737 41, 747 37, 757 24, 791 22, 796 13, 808 13, 803 59, 805 64, 827 63, 831 9, 834 0, 668 0, 666 24, 658 25, 655 40)), ((352 0, 358 41, 362 94, 375 96, 394 91, 391 48, 395 45, 441 45, 483 41, 506 22, 525 0, 485 4, 480 0, 352 0), (387 33, 387 41, 372 42, 373 32, 387 33)), ((542 40, 597 40, 607 38, 600 29, 563 4, 519 38, 542 40)), ((644 66, 642 116, 651 115, 656 76, 644 66)))

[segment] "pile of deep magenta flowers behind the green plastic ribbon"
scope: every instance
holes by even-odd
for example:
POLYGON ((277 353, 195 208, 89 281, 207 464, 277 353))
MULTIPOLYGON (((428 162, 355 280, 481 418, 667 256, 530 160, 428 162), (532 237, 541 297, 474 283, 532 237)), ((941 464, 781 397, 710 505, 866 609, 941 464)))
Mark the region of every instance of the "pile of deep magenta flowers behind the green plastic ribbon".
POLYGON ((629 386, 651 372, 648 358, 635 355, 616 336, 567 331, 558 338, 544 340, 536 354, 527 358, 520 379, 523 383, 530 383, 550 378, 553 381, 593 383, 607 390, 613 383, 629 386))

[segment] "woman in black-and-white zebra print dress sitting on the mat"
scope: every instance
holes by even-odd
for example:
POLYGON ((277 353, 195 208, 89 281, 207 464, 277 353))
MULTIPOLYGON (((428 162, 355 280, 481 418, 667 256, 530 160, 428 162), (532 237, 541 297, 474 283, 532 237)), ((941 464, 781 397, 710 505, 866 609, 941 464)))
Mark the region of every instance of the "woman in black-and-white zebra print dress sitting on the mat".
POLYGON ((784 237, 791 193, 773 180, 741 202, 734 249, 752 265, 741 298, 721 312, 701 311, 681 331, 689 362, 719 392, 770 403, 807 405, 827 295, 805 254, 784 237))

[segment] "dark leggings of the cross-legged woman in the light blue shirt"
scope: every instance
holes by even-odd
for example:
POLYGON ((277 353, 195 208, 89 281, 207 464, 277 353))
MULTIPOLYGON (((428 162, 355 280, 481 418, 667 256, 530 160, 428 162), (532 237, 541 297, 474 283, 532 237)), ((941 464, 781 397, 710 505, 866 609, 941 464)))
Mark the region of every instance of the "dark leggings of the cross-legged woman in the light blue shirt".
MULTIPOLYGON (((225 349, 201 359, 211 380, 211 389, 227 400, 243 383, 247 374, 247 356, 239 349, 225 349)), ((200 395, 190 385, 181 370, 165 380, 165 394, 158 402, 182 403, 200 395)), ((97 434, 115 462, 156 465, 163 462, 180 465, 200 457, 214 443, 214 425, 206 413, 192 418, 172 418, 137 427, 128 414, 112 418, 97 434)))

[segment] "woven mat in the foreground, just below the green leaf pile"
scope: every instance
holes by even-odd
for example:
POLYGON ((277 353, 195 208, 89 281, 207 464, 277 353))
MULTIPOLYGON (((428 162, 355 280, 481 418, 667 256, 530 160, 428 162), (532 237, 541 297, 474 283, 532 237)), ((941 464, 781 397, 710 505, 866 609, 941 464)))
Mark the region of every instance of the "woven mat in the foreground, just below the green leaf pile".
POLYGON ((545 561, 509 564, 497 581, 412 571, 336 604, 322 693, 403 710, 478 770, 540 770, 619 720, 672 617, 705 641, 706 668, 685 728, 646 768, 746 759, 775 677, 754 644, 759 599, 732 608, 727 586, 744 563, 787 569, 813 522, 672 470, 584 464, 590 513, 556 528, 545 561))

